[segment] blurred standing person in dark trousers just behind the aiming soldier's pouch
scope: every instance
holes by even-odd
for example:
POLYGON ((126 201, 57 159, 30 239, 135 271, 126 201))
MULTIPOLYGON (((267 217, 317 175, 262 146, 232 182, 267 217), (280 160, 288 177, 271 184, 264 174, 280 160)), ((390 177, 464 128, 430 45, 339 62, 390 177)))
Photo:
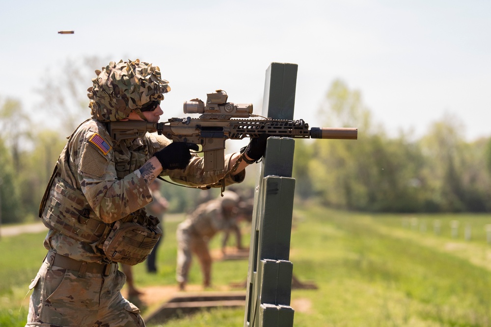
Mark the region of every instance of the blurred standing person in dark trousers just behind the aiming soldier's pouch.
POLYGON ((152 252, 150 252, 146 260, 147 272, 155 274, 157 273, 157 265, 155 264, 157 258, 157 249, 159 247, 159 244, 164 239, 164 233, 165 233, 164 212, 169 207, 169 203, 160 193, 160 183, 157 179, 152 184, 150 184, 149 190, 154 201, 146 206, 146 210, 149 215, 155 216, 159 219, 160 221, 159 227, 162 230, 162 236, 160 237, 159 241, 153 248, 152 252))

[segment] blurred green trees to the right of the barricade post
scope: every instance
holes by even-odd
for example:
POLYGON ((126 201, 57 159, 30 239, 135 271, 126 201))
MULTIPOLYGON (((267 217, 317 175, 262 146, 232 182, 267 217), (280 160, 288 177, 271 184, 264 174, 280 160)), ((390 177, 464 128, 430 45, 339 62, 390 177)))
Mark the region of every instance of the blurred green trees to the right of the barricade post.
POLYGON ((371 212, 490 212, 491 140, 466 142, 457 117, 445 115, 416 140, 388 137, 359 91, 336 80, 321 117, 357 126, 357 141, 296 143, 297 194, 337 208, 371 212))

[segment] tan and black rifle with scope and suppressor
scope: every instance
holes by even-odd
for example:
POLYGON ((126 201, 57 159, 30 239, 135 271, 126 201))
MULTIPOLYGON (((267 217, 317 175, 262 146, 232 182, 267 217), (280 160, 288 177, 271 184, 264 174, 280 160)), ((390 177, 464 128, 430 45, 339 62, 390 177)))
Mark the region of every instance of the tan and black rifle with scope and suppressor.
POLYGON ((194 143, 201 146, 204 169, 222 170, 225 141, 259 137, 261 134, 277 137, 356 140, 358 129, 352 127, 311 127, 302 119, 276 120, 252 114, 252 103, 227 102, 225 91, 207 94, 206 104, 193 99, 184 102, 185 114, 201 114, 199 118, 170 118, 165 123, 143 121, 116 121, 108 123, 111 137, 116 140, 137 138, 146 132, 158 132, 173 142, 194 143), (262 117, 250 119, 249 117, 262 117))

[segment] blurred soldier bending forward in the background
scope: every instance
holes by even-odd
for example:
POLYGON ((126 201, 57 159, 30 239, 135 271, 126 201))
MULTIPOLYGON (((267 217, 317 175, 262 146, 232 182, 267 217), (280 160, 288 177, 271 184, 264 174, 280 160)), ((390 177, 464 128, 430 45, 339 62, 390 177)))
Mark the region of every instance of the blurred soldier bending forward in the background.
POLYGON ((244 216, 245 213, 239 211, 239 200, 236 193, 225 191, 223 197, 200 204, 177 226, 176 279, 181 290, 185 289, 188 281, 192 253, 198 257, 203 286, 210 286, 212 258, 208 243, 216 233, 235 226, 244 216))

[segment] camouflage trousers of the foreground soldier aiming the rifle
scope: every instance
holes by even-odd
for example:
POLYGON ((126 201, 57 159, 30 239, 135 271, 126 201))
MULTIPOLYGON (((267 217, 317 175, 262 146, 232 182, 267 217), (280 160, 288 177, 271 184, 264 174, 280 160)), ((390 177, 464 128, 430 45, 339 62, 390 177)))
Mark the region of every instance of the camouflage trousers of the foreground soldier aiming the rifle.
POLYGON ((126 277, 55 267, 46 259, 29 285, 26 327, 143 327, 139 309, 121 295, 126 277))

